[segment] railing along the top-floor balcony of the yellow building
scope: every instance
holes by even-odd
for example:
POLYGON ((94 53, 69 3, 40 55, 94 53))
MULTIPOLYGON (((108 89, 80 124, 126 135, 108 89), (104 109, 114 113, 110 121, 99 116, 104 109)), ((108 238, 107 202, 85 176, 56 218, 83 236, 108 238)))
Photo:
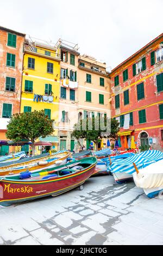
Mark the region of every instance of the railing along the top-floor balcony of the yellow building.
POLYGON ((30 51, 38 55, 46 56, 47 58, 55 58, 60 59, 60 54, 58 52, 52 52, 49 50, 44 50, 40 47, 32 46, 32 45, 24 45, 25 51, 30 51))

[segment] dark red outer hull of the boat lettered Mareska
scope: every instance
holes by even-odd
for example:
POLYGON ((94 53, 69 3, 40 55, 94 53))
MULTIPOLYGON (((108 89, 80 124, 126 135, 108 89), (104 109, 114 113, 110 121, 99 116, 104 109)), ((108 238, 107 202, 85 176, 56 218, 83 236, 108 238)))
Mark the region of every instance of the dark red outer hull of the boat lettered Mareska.
POLYGON ((74 174, 46 180, 0 180, 0 205, 9 206, 36 198, 58 196, 58 194, 80 186, 95 172, 95 164, 74 174))

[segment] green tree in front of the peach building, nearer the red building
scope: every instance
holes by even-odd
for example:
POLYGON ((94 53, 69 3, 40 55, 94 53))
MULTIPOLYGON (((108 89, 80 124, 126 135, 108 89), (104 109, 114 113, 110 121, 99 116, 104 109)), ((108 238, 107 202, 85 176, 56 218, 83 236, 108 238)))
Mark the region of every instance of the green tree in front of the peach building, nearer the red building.
POLYGON ((85 140, 90 139, 96 144, 96 149, 97 149, 98 141, 103 136, 107 136, 110 138, 117 137, 117 132, 120 130, 119 125, 120 123, 118 123, 118 121, 114 119, 105 118, 102 120, 102 118, 99 119, 98 117, 85 118, 85 119, 79 120, 78 123, 74 125, 72 136, 74 136, 77 139, 79 138, 84 138, 85 140), (92 125, 89 126, 89 123, 92 125), (100 123, 100 125, 98 125, 97 123, 100 123), (108 125, 106 123, 109 124, 111 127, 110 132, 107 132, 106 127, 108 125), (83 127, 85 127, 85 129, 83 129, 83 127))

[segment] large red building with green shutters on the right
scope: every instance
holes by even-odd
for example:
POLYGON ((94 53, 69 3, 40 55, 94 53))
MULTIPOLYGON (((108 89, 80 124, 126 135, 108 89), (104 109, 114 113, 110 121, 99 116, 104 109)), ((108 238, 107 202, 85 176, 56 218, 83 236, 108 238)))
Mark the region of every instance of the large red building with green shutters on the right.
MULTIPOLYGON (((163 149, 163 33, 111 71, 112 118, 124 138, 163 149)), ((129 148, 129 147, 128 147, 129 148)))

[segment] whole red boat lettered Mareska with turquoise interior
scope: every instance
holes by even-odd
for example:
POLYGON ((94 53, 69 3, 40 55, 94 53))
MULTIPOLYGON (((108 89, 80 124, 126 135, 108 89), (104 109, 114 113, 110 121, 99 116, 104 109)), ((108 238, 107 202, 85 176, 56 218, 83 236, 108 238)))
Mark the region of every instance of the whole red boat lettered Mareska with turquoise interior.
POLYGON ((42 198, 58 196, 82 185, 94 172, 96 157, 87 157, 73 163, 18 175, 0 178, 0 205, 10 206, 42 198))

